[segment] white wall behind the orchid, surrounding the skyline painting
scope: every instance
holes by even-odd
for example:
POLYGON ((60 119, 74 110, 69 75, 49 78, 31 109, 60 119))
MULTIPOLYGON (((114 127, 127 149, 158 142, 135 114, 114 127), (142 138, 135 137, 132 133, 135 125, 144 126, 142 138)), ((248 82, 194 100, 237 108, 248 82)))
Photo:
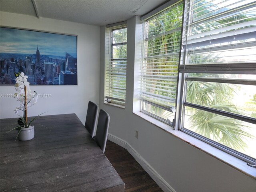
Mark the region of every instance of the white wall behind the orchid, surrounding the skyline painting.
MULTIPOLYGON (((38 94, 51 94, 50 98, 39 98, 36 105, 28 109, 28 116, 76 113, 84 123, 88 101, 99 103, 100 73, 100 27, 37 18, 8 12, 0 13, 1 26, 72 34, 78 36, 78 86, 30 86, 38 94)), ((36 52, 36 48, 35 48, 36 52)), ((14 94, 13 86, 0 86, 0 94, 14 94)), ((18 106, 14 98, 0 98, 0 117, 18 117, 13 110, 18 106)))

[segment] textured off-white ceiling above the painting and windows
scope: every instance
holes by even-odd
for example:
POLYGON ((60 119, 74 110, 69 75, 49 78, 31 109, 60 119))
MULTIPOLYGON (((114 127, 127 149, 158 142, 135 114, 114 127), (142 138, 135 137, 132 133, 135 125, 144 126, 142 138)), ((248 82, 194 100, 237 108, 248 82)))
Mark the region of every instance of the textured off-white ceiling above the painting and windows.
MULTIPOLYGON (((144 15, 165 0, 35 0, 40 17, 103 26, 144 15)), ((32 0, 0 0, 0 10, 36 17, 32 0)))

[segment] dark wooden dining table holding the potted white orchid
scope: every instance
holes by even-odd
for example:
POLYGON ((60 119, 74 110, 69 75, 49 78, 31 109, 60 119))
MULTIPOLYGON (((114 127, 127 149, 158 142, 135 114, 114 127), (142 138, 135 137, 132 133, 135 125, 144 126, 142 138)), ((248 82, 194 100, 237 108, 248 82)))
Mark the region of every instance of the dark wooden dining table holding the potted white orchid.
POLYGON ((76 114, 41 116, 29 141, 15 141, 16 130, 6 133, 17 119, 0 120, 1 192, 124 192, 124 182, 76 114))

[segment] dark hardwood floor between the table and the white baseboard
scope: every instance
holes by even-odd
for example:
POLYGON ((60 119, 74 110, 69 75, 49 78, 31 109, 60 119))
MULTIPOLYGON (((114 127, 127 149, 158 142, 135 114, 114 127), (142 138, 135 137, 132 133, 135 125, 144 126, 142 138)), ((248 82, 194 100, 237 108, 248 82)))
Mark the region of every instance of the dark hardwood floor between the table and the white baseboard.
POLYGON ((163 191, 126 149, 108 140, 105 155, 124 181, 126 192, 163 191))

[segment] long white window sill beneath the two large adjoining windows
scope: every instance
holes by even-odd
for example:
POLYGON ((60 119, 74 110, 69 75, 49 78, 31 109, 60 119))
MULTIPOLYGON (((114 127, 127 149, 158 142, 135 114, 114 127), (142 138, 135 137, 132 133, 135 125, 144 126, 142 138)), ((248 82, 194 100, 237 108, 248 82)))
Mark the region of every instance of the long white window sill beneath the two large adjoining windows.
POLYGON ((230 154, 227 154, 226 152, 219 150, 219 149, 211 146, 210 144, 207 144, 201 140, 198 140, 184 132, 181 132, 179 130, 174 130, 171 126, 164 124, 163 122, 160 122, 142 112, 133 112, 133 113, 135 115, 143 118, 144 120, 150 122, 151 124, 154 124, 155 126, 161 128, 165 132, 172 134, 173 136, 181 139, 182 141, 186 142, 187 144, 190 144, 191 146, 197 148, 198 150, 205 152, 206 154, 235 168, 236 170, 244 173, 245 175, 256 179, 256 169, 246 165, 246 162, 244 162, 243 160, 240 160, 230 154))

